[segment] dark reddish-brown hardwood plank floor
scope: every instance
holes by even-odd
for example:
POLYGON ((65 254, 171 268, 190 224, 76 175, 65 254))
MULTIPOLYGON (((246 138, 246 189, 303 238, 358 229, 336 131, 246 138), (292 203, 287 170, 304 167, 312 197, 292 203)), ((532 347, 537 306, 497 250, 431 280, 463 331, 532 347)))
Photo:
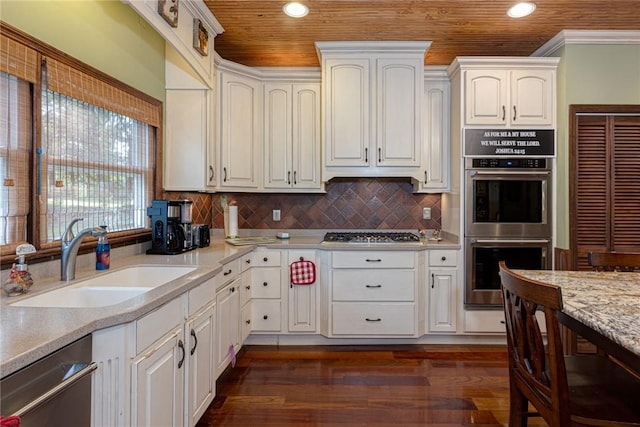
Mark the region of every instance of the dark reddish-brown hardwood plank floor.
POLYGON ((197 427, 506 426, 509 418, 500 346, 247 346, 216 394, 197 427))

